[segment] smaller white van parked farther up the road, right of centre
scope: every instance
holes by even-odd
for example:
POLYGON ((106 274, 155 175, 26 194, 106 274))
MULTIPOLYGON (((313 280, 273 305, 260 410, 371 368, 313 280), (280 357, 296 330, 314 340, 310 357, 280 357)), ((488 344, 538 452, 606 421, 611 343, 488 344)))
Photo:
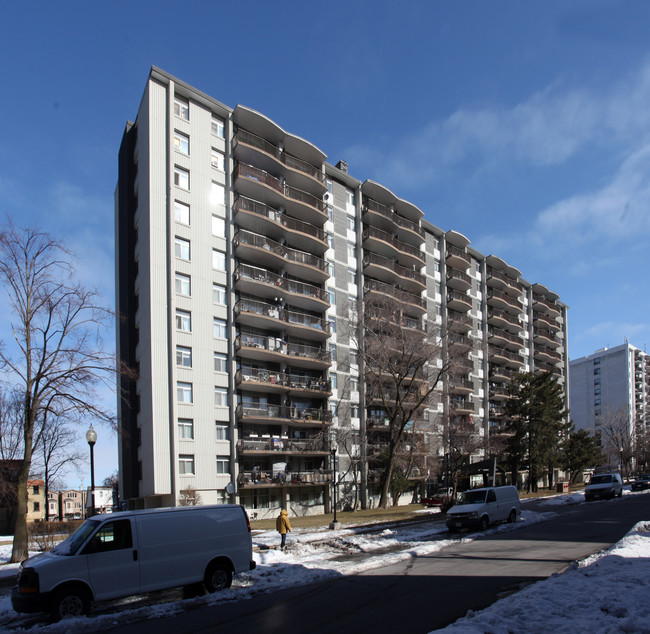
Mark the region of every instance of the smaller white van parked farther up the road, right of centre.
POLYGON ((447 528, 480 528, 495 522, 517 521, 521 514, 516 487, 487 487, 460 494, 458 502, 447 511, 447 528))

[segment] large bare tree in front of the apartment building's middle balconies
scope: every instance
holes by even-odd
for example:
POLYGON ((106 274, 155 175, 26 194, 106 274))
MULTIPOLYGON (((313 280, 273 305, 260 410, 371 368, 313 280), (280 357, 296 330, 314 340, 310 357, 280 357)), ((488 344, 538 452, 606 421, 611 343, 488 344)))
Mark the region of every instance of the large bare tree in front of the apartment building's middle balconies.
MULTIPOLYGON (((387 429, 386 467, 379 506, 386 508, 397 451, 409 423, 421 419, 448 371, 441 333, 405 321, 393 298, 367 299, 351 339, 362 361, 366 407, 382 412, 387 429), (406 326, 406 327, 405 327, 406 326)), ((369 421, 372 422, 372 421, 369 421)))

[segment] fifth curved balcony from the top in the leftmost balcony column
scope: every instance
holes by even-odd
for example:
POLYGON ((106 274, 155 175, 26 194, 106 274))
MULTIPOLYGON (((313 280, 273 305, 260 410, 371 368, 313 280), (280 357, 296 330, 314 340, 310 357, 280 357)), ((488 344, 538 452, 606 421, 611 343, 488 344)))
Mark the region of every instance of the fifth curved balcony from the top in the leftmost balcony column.
POLYGON ((282 299, 306 310, 327 310, 329 293, 318 286, 298 282, 266 269, 240 264, 235 269, 235 288, 261 298, 282 299))

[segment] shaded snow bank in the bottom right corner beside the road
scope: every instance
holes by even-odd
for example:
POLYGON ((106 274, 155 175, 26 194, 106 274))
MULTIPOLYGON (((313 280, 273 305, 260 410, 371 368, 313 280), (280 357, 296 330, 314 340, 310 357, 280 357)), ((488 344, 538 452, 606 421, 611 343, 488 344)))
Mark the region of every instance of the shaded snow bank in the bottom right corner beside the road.
POLYGON ((650 522, 610 549, 438 632, 650 633, 650 522))

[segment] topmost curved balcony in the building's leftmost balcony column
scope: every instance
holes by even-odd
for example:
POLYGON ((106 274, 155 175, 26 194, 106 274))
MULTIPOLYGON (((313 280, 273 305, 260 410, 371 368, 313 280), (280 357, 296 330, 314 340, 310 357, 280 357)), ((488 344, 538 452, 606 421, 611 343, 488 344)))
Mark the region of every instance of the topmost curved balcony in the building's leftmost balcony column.
POLYGON ((273 143, 240 128, 233 138, 233 152, 238 161, 257 165, 281 174, 295 187, 322 196, 327 191, 322 169, 287 154, 273 143))

